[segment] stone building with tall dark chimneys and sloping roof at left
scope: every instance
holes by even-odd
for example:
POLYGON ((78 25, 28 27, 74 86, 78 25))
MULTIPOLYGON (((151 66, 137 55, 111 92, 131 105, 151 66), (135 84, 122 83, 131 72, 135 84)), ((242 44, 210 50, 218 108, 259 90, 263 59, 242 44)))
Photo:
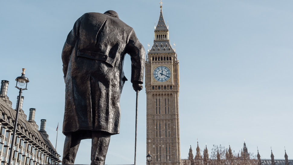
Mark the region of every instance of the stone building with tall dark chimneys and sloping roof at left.
MULTIPOLYGON (((9 81, 1 81, 0 91, 0 160, 1 165, 8 163, 16 110, 7 97, 9 81)), ((60 155, 49 141, 45 131, 46 120, 41 120, 41 127, 34 121, 35 108, 30 108, 29 120, 22 110, 24 97, 21 97, 18 125, 11 165, 59 164, 60 155)), ((17 104, 16 104, 17 105, 17 104)))

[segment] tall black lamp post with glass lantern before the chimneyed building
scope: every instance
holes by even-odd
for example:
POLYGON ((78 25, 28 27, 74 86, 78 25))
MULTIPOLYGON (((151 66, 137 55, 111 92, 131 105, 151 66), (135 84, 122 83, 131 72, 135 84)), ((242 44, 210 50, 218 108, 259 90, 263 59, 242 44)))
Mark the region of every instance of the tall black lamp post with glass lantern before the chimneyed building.
POLYGON ((20 99, 21 99, 21 94, 22 90, 27 90, 27 82, 29 82, 28 78, 26 78, 24 75, 25 69, 22 68, 22 73, 21 76, 17 77, 15 79, 16 81, 16 86, 15 88, 19 89, 19 96, 18 96, 18 104, 16 108, 16 115, 15 115, 15 121, 14 121, 14 127, 13 127, 13 135, 12 135, 12 142, 11 142, 11 147, 10 147, 10 153, 9 153, 9 160, 8 160, 8 165, 11 164, 11 158, 12 158, 12 153, 13 153, 13 147, 14 147, 14 141, 15 141, 15 136, 16 136, 16 129, 17 129, 17 119, 18 119, 18 113, 19 113, 19 106, 20 106, 20 99), (18 87, 17 84, 20 86, 18 87), (25 88, 23 89, 22 87, 25 85, 25 88))

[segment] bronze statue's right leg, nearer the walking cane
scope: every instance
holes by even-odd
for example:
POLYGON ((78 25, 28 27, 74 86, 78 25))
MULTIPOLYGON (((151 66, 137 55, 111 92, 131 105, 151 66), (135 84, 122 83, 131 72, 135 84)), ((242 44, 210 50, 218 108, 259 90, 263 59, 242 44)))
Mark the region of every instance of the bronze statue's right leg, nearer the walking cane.
POLYGON ((110 143, 110 134, 101 131, 92 131, 91 164, 105 164, 106 154, 110 143))

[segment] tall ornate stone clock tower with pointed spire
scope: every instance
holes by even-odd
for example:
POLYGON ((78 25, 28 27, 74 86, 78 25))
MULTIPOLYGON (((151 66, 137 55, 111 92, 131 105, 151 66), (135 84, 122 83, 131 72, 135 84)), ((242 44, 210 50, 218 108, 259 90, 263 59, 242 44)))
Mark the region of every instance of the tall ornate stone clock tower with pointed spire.
POLYGON ((160 17, 154 44, 146 61, 147 153, 156 165, 180 165, 179 139, 179 60, 170 45, 169 30, 160 17))

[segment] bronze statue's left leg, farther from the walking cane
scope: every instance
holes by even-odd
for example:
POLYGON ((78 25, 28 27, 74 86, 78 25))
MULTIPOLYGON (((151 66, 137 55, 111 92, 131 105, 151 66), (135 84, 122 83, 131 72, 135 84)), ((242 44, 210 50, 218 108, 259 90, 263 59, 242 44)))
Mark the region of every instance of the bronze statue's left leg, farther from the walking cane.
POLYGON ((81 138, 78 134, 67 133, 63 148, 62 164, 74 164, 81 138))

